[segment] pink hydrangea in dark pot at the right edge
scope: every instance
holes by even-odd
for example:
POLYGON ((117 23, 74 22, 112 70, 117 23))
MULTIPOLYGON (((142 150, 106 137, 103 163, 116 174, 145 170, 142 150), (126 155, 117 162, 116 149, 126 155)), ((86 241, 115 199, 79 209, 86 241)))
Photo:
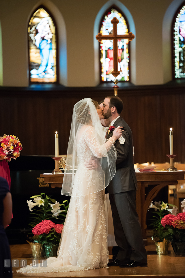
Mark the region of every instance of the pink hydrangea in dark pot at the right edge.
POLYGON ((177 216, 165 215, 161 224, 167 229, 175 255, 185 255, 185 212, 178 213, 177 216))

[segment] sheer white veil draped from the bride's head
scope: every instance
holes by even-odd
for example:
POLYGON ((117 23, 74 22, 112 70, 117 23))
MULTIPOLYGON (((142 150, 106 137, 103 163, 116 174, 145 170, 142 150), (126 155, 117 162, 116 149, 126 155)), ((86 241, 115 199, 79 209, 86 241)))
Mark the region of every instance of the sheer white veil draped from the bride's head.
MULTIPOLYGON (((80 138, 85 136, 91 150, 90 153, 89 151, 86 153, 86 161, 98 159, 99 167, 91 170, 94 171, 92 184, 86 190, 79 191, 78 196, 88 195, 106 188, 115 175, 117 156, 115 147, 112 143, 111 148, 105 146, 106 139, 96 107, 91 98, 84 98, 76 103, 73 109, 66 168, 61 190, 63 195, 73 195, 75 172, 79 168, 79 156, 81 156, 81 153, 78 152, 78 144, 80 138)), ((84 149, 83 152, 85 151, 84 149)))

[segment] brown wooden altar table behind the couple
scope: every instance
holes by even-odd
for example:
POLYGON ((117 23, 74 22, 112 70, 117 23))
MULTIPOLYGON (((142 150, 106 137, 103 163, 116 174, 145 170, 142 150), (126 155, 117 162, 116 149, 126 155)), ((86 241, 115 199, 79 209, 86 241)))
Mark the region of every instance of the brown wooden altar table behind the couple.
MULTIPOLYGON (((137 177, 137 197, 136 206, 139 220, 141 222, 143 239, 147 241, 146 237, 146 214, 150 202, 156 197, 157 193, 165 186, 170 184, 177 185, 178 180, 184 180, 185 171, 172 171, 172 172, 140 172, 136 173, 137 177), (146 187, 151 187, 148 193, 145 192, 146 187)), ((63 173, 55 175, 40 175, 44 178, 45 183, 51 184, 52 188, 62 187, 63 173)), ((150 189, 150 188, 149 188, 150 189)), ((147 242, 146 242, 147 243, 147 242)))

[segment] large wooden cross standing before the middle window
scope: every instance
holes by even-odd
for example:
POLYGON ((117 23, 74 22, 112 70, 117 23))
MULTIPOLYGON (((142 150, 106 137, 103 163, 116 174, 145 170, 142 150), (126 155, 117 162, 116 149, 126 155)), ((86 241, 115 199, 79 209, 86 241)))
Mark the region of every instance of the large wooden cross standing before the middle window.
POLYGON ((102 40, 113 40, 113 72, 112 75, 117 77, 119 75, 119 71, 117 70, 117 64, 118 64, 118 58, 117 58, 117 40, 125 40, 128 39, 129 41, 132 41, 135 36, 132 34, 132 32, 129 32, 127 35, 118 35, 117 34, 117 23, 119 23, 119 19, 114 17, 111 20, 111 23, 113 24, 113 34, 112 35, 102 35, 101 33, 98 33, 96 36, 96 39, 101 42, 102 40))

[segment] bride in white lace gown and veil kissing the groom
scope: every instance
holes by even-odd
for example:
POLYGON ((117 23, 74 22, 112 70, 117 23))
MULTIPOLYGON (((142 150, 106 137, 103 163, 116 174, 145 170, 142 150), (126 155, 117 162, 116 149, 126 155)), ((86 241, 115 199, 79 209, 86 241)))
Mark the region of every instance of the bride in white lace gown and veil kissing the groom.
POLYGON ((107 267, 109 252, 106 229, 104 188, 115 175, 115 141, 121 128, 105 140, 98 103, 91 98, 80 100, 73 109, 66 169, 61 194, 71 196, 63 226, 58 257, 50 257, 47 266, 31 265, 19 273, 67 272, 107 267), (99 160, 99 167, 89 170, 88 160, 99 160))

